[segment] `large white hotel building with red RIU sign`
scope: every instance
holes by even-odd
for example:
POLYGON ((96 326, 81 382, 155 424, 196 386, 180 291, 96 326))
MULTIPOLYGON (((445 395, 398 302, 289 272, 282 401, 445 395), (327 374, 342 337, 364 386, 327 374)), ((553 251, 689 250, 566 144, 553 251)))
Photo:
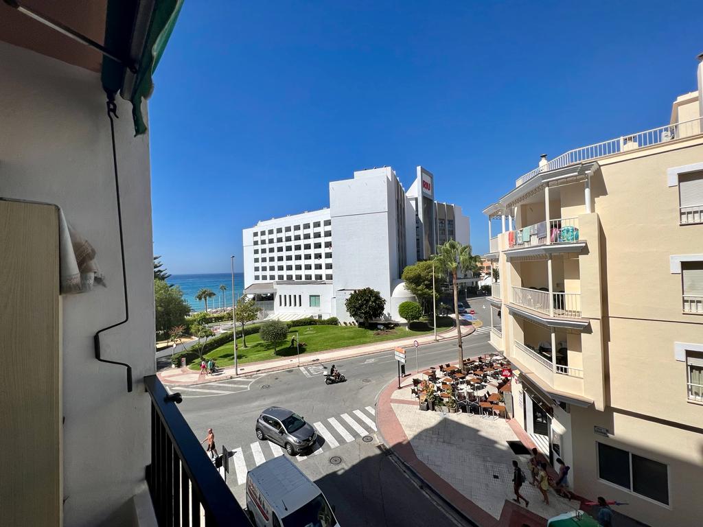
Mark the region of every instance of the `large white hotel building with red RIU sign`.
POLYGON ((413 299, 400 279, 405 266, 438 245, 470 241, 457 205, 434 201, 434 176, 418 167, 406 190, 391 167, 354 172, 330 183, 330 207, 259 221, 242 231, 245 294, 276 318, 352 318, 344 301, 371 287, 386 300, 383 320, 401 320, 413 299))

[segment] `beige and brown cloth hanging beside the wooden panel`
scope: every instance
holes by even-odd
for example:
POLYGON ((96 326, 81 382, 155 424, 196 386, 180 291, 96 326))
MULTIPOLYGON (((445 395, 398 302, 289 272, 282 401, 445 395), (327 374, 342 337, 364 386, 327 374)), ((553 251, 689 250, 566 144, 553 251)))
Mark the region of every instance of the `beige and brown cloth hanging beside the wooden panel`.
POLYGON ((60 294, 84 293, 96 284, 105 287, 95 249, 70 226, 61 209, 58 210, 58 228, 60 294))

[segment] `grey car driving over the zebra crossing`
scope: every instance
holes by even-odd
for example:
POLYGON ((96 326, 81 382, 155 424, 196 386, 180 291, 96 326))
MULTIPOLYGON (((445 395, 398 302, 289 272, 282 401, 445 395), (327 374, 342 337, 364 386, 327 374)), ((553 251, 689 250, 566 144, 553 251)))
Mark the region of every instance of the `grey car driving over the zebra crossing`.
POLYGON ((295 412, 271 406, 257 419, 257 438, 268 439, 285 448, 289 455, 296 455, 310 448, 317 441, 317 430, 295 412))

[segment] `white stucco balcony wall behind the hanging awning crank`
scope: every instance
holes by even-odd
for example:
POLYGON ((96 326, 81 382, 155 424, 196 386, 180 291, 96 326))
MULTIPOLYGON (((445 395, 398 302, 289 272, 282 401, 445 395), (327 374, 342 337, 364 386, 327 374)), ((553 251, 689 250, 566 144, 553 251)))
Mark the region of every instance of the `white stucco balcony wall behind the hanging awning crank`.
MULTIPOLYGON (((117 154, 129 288, 129 323, 105 332, 99 363, 93 334, 122 320, 122 270, 105 94, 96 73, 0 42, 0 196, 58 204, 95 247, 108 287, 62 297, 64 525, 121 526, 124 504, 150 455, 154 303, 149 144, 134 138, 131 107, 118 100, 117 154)), ((27 299, 32 301, 32 299, 27 299)), ((21 451, 18 455, 29 455, 21 451)))

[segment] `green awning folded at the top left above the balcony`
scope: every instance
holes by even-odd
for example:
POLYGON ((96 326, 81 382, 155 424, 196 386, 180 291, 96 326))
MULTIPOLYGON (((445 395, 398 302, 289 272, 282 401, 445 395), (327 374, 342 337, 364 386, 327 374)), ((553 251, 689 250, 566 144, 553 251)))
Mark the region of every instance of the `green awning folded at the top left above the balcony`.
POLYGON ((131 58, 127 66, 103 57, 103 88, 132 104, 134 135, 146 132, 141 103, 154 88, 152 76, 181 12, 183 0, 109 0, 105 21, 105 47, 131 58), (147 7, 150 6, 150 7, 147 7))

